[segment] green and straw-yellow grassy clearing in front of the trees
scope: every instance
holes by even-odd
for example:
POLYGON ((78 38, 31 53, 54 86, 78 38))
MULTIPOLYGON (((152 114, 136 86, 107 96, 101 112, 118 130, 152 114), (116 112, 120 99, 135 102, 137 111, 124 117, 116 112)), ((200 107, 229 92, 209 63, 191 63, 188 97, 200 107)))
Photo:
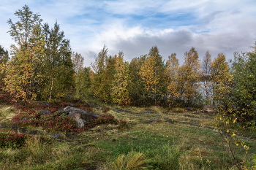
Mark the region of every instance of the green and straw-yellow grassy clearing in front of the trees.
MULTIPOLYGON (((228 125, 222 134, 216 115, 182 108, 110 107, 125 125, 97 125, 81 133, 24 127, 23 147, 1 148, 0 169, 249 169, 256 153, 256 133, 228 125), (59 134, 53 139, 53 134, 59 134), (243 146, 239 143, 244 142, 243 146), (238 146, 237 146, 238 144, 238 146), (246 148, 249 147, 249 150, 246 148)), ((102 107, 93 111, 101 114, 102 107)), ((10 133, 20 111, 0 106, 0 132, 10 133)), ((22 127, 18 128, 19 133, 22 127)))

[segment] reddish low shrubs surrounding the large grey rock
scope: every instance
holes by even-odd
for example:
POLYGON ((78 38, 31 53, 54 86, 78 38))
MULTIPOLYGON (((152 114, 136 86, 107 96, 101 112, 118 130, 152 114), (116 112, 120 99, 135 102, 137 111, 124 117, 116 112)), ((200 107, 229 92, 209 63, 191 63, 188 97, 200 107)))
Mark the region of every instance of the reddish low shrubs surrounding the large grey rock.
MULTIPOLYGON (((31 103, 24 106, 18 105, 20 114, 12 117, 12 121, 20 126, 34 125, 41 126, 48 131, 63 131, 63 132, 81 132, 89 128, 93 128, 99 124, 118 124, 120 120, 116 119, 113 115, 108 114, 109 108, 103 110, 102 115, 97 119, 91 120, 91 123, 85 125, 83 128, 77 128, 75 119, 65 115, 64 113, 56 112, 57 110, 67 107, 68 104, 64 101, 53 101, 47 105, 39 103, 31 103), (50 115, 43 115, 38 112, 40 109, 50 110, 50 115)), ((78 107, 93 112, 90 107, 78 107)), ((125 120, 121 120, 121 124, 126 124, 125 120)))

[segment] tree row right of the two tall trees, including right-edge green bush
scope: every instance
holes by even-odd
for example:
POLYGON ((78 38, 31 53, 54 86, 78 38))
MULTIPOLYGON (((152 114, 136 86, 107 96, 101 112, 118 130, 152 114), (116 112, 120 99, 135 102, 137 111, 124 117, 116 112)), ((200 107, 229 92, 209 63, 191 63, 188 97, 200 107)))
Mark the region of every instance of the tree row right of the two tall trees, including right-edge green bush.
POLYGON ((108 55, 104 46, 91 67, 75 74, 75 96, 146 107, 211 104, 222 115, 255 128, 256 42, 252 47, 252 52, 235 52, 230 63, 224 53, 212 59, 209 51, 200 61, 192 47, 184 53, 184 63, 180 65, 176 53, 163 61, 157 46, 130 62, 124 60, 123 52, 108 55))

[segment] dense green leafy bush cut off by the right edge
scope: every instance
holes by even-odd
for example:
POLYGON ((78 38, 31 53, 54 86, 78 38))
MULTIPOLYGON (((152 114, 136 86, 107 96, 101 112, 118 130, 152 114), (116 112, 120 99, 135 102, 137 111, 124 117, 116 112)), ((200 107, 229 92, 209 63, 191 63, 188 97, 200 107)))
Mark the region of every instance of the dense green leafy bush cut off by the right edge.
POLYGON ((229 114, 252 130, 256 129, 256 53, 237 55, 233 62, 233 107, 229 114))

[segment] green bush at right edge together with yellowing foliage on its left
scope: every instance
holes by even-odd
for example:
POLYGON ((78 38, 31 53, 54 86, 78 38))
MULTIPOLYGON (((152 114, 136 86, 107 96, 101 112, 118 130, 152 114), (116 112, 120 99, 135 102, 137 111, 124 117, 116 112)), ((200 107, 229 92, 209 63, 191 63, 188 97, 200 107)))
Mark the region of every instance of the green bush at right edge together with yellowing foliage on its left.
MULTIPOLYGON (((215 101, 219 112, 242 123, 245 128, 255 130, 256 126, 256 55, 235 54, 231 73, 227 74, 227 63, 222 65, 216 76, 215 101)), ((222 60, 223 61, 223 60, 222 60)))

